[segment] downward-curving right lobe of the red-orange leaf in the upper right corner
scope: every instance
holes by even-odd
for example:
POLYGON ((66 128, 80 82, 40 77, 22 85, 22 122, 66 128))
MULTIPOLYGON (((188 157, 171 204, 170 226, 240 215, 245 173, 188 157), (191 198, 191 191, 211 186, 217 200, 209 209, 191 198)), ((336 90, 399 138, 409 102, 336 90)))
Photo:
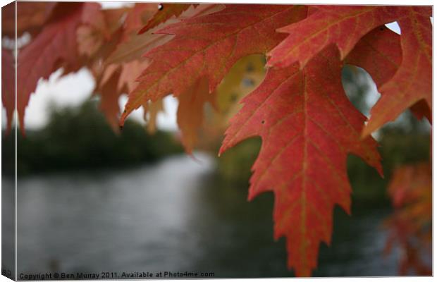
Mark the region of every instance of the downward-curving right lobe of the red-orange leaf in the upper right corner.
MULTIPOLYGON (((429 9, 406 9, 404 16, 398 20, 402 63, 394 77, 379 88, 381 99, 371 109, 371 118, 364 128, 364 136, 388 121, 395 120, 405 109, 421 100, 426 102, 429 109, 432 106, 432 25, 429 9)), ((428 111, 424 112, 427 115, 428 111)))

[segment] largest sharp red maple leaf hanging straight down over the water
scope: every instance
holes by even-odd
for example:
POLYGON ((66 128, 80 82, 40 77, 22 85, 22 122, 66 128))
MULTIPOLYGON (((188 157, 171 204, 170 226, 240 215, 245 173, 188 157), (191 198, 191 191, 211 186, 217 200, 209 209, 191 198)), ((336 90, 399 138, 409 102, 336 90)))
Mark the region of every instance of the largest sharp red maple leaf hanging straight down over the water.
POLYGON ((248 137, 261 137, 249 200, 274 192, 275 238, 287 237, 288 266, 297 276, 310 276, 319 243, 331 242, 334 205, 350 213, 347 153, 382 173, 376 142, 360 137, 365 117, 345 96, 341 68, 331 48, 302 71, 297 65, 270 69, 242 100, 220 149, 223 153, 248 137))

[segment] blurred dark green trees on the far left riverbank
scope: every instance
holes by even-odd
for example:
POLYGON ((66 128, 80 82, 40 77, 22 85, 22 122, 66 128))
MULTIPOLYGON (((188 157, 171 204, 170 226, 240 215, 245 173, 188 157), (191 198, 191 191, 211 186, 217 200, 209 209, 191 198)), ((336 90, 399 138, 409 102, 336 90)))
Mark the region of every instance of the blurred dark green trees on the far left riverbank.
MULTIPOLYGON (((114 133, 92 100, 78 108, 52 111, 45 128, 27 130, 26 134, 17 136, 20 176, 43 171, 124 168, 183 152, 171 133, 149 135, 135 121, 126 122, 121 133, 114 133)), ((8 149, 13 145, 13 134, 3 141, 4 173, 13 175, 13 150, 8 149)))

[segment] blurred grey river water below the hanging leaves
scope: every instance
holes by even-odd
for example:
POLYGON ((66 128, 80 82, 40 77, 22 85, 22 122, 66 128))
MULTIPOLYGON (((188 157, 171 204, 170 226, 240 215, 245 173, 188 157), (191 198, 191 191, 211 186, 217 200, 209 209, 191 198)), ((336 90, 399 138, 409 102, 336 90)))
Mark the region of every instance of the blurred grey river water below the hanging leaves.
MULTIPOLYGON (((114 171, 18 178, 18 274, 208 271, 216 278, 293 276, 273 240, 273 195, 214 177, 207 154, 114 171)), ((3 184, 9 180, 4 179, 3 184)), ((11 183, 9 183, 10 185, 11 183)), ((314 276, 395 276, 383 256, 387 209, 336 208, 314 276)))

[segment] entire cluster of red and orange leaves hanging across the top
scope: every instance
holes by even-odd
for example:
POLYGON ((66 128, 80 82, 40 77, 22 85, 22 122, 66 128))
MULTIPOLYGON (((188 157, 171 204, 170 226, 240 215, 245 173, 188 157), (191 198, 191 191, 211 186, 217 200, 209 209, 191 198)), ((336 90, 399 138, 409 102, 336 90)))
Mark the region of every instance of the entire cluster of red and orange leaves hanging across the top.
MULTIPOLYGON (((242 78, 260 82, 230 119, 219 154, 261 137, 249 199, 275 193, 274 235, 286 236, 288 266, 298 276, 311 275, 319 244, 330 243, 334 205, 350 212, 347 154, 382 175, 370 133, 406 109, 431 121, 431 7, 142 3, 102 10, 95 3, 18 2, 17 18, 14 8, 2 9, 2 36, 32 37, 17 58, 22 131, 40 78, 87 67, 114 130, 143 107, 153 132, 162 99, 177 97, 182 142, 191 152, 204 104, 221 117, 234 114, 229 100, 254 86, 241 90, 242 78), (384 25, 395 20, 401 35, 384 25), (264 80, 264 61, 254 54, 267 58, 264 80), (346 63, 364 68, 381 93, 365 126, 344 94, 346 63), (123 93, 129 96, 121 113, 123 93)), ((11 122, 13 53, 2 48, 2 57, 11 122)))

